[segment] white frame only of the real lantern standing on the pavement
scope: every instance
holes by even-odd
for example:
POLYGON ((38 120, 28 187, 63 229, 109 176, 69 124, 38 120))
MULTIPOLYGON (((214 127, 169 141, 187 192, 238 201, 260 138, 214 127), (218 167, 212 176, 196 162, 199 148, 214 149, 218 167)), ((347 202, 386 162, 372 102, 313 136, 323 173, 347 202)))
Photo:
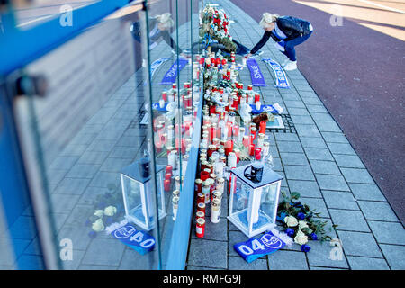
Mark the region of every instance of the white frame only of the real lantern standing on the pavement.
MULTIPOLYGON (((254 183, 244 176, 245 169, 250 166, 239 166, 237 168, 231 169, 231 183, 230 183, 230 201, 229 201, 229 216, 228 220, 233 223, 238 229, 240 229, 248 238, 254 237, 260 233, 265 232, 268 229, 275 228, 275 220, 277 216, 278 201, 281 190, 281 182, 284 179, 283 176, 278 175, 270 168, 266 167, 263 171, 262 181, 259 183, 254 183), (247 184, 248 191, 248 204, 247 208, 241 209, 234 212, 234 204, 236 196, 236 184, 240 181, 242 184, 247 184), (269 187, 271 185, 276 185, 275 187, 275 203, 273 206, 272 215, 267 215, 265 211, 260 209, 261 197, 263 188, 269 187), (242 224, 239 219, 246 212, 247 214, 247 226, 242 224), (257 218, 256 221, 253 219, 257 218), (261 219, 264 223, 262 226, 255 228, 254 223, 257 223, 261 219)), ((269 187, 269 189, 271 189, 269 187)), ((273 191, 273 190, 272 190, 273 191)), ((268 193, 271 193, 268 192, 268 193)))

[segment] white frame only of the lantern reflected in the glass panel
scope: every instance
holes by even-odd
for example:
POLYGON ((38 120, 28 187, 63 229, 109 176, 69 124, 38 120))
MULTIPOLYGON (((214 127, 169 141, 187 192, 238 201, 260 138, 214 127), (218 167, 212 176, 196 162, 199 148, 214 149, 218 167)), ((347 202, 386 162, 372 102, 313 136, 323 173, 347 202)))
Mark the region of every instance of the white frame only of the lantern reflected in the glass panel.
MULTIPOLYGON (((153 201, 153 192, 150 186, 147 188, 152 176, 149 175, 148 177, 143 177, 140 175, 139 165, 140 162, 135 161, 130 164, 130 166, 126 166, 121 170, 121 189, 125 208, 125 218, 138 225, 141 229, 150 231, 151 229, 154 229, 156 225, 156 206, 153 201), (140 204, 136 203, 134 207, 130 207, 130 201, 128 199, 130 191, 127 191, 126 189, 126 181, 135 182, 139 185, 140 204), (136 212, 139 211, 143 214, 145 220, 141 220, 139 217, 135 216, 136 212)), ((152 165, 152 163, 149 165, 152 165)), ((157 197, 155 199, 158 202, 158 220, 162 220, 166 217, 165 193, 163 191, 163 171, 165 167, 160 165, 157 165, 156 167, 156 181, 158 182, 157 189, 159 191, 157 191, 157 197), (160 196, 160 199, 158 196, 160 196)), ((149 169, 149 173, 150 171, 151 170, 149 169)))

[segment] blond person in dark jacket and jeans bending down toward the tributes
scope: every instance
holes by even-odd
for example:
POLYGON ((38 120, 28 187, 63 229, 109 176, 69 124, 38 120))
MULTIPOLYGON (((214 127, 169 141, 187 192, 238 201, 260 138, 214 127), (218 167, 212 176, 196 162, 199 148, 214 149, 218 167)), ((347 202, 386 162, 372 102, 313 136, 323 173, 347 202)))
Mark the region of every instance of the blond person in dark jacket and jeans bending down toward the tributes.
POLYGON ((275 47, 288 58, 282 65, 284 70, 295 70, 297 68, 295 46, 310 38, 313 30, 311 23, 293 16, 265 13, 259 24, 265 30, 265 34, 247 54, 247 58, 256 54, 271 37, 275 40, 275 47))

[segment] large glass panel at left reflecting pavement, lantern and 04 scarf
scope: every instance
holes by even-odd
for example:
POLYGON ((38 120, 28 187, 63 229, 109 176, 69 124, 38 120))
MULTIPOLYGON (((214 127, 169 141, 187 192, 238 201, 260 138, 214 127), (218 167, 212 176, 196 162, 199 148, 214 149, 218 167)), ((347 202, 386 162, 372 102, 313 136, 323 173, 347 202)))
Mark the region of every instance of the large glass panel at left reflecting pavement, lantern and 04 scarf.
POLYGON ((160 268, 157 218, 171 217, 152 157, 146 23, 131 4, 25 68, 48 86, 16 111, 63 269, 160 268))

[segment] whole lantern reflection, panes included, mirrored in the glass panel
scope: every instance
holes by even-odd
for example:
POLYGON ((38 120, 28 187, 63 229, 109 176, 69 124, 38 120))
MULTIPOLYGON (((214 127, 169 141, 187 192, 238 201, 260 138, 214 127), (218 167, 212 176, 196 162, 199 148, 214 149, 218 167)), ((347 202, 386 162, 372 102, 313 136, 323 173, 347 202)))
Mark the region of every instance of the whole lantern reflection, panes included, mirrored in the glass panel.
MULTIPOLYGON (((156 206, 153 198, 150 162, 142 159, 126 166, 121 171, 122 196, 125 218, 147 231, 155 227, 156 206)), ((165 194, 163 193, 164 166, 157 165, 158 219, 166 217, 165 194)))

